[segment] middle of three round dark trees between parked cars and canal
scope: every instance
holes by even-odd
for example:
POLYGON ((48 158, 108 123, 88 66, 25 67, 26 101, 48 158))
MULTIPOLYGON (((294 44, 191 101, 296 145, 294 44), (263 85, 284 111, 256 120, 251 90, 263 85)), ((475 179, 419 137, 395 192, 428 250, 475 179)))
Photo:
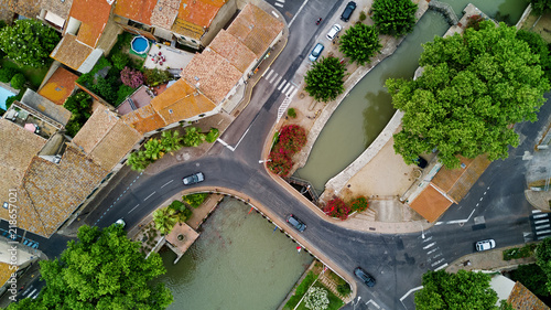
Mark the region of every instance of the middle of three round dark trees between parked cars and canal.
POLYGON ((339 43, 338 50, 359 65, 369 64, 370 58, 382 47, 377 29, 364 23, 357 23, 347 29, 339 43))

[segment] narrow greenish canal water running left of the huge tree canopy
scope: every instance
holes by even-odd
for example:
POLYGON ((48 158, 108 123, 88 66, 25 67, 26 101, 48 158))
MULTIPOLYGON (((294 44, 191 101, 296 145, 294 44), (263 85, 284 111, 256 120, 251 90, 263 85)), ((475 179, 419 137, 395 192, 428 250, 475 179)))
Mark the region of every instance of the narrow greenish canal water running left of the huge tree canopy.
MULTIPOLYGON (((445 0, 457 15, 472 2, 489 17, 501 12, 516 23, 527 2, 522 0, 445 0)), ((385 81, 389 77, 411 78, 419 66, 421 44, 431 42, 435 35, 442 36, 450 25, 442 14, 428 11, 412 33, 402 41, 397 51, 350 90, 334 111, 312 148, 306 164, 295 172, 295 177, 309 180, 322 192, 325 183, 350 164, 377 138, 392 117, 395 109, 385 81)))

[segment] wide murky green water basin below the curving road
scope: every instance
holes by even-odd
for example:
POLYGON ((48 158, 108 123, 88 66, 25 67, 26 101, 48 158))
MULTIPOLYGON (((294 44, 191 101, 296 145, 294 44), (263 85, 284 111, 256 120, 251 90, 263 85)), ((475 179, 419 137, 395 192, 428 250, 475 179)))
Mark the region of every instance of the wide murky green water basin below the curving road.
POLYGON ((171 250, 161 253, 168 272, 159 280, 174 296, 168 309, 278 308, 313 258, 249 210, 225 199, 176 265, 171 250))

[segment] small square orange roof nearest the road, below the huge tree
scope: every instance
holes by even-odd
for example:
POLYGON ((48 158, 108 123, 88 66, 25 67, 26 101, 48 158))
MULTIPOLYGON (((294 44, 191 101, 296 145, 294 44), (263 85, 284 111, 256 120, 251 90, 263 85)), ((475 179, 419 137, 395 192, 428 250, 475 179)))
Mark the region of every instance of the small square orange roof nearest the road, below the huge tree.
POLYGON ((442 195, 436 189, 426 185, 426 188, 411 202, 410 207, 417 211, 429 222, 436 221, 453 202, 442 195))

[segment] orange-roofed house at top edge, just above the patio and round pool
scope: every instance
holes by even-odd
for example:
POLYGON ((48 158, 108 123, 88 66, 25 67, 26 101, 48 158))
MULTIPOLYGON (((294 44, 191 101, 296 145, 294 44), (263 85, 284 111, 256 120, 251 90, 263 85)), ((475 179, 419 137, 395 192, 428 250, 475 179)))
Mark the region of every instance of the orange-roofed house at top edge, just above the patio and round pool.
POLYGON ((236 11, 236 0, 118 0, 112 13, 125 31, 201 50, 236 11))

